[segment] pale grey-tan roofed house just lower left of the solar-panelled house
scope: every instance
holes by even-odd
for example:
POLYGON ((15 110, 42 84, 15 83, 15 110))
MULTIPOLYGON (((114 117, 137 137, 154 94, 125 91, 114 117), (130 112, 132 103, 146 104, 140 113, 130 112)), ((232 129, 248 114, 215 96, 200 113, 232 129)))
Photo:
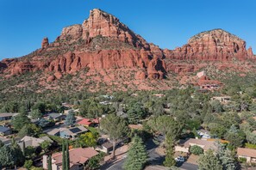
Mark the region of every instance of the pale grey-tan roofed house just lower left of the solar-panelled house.
POLYGON ((53 141, 49 138, 49 137, 40 137, 40 138, 36 138, 36 137, 28 137, 25 136, 21 139, 21 141, 18 143, 20 145, 20 147, 22 148, 23 143, 25 145, 25 148, 27 147, 39 147, 41 143, 48 141, 50 143, 53 143, 53 141))

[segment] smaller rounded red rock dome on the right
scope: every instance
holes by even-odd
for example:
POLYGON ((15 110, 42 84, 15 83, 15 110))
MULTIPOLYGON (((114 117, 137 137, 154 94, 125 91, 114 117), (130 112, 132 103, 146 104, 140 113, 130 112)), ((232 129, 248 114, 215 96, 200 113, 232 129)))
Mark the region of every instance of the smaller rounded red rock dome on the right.
POLYGON ((189 39, 187 45, 170 52, 165 51, 165 56, 178 60, 226 61, 232 58, 244 60, 250 54, 247 54, 244 40, 222 29, 214 29, 198 33, 189 39))

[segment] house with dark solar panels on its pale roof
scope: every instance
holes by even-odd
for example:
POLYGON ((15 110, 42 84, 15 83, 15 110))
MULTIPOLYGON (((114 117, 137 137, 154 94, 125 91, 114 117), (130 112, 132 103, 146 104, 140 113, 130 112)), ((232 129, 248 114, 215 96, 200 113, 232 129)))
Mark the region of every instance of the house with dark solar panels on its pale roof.
POLYGON ((81 135, 87 131, 88 130, 83 125, 80 125, 80 126, 71 127, 71 128, 53 129, 53 131, 48 131, 47 134, 74 140, 78 137, 78 135, 81 135))

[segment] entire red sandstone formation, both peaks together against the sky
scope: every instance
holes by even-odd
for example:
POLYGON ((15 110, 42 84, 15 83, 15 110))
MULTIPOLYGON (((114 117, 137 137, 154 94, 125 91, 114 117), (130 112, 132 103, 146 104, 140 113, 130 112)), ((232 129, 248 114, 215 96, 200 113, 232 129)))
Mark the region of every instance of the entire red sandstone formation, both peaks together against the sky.
POLYGON ((92 9, 82 24, 64 27, 52 43, 42 39, 41 49, 22 58, 3 59, 0 71, 5 75, 27 71, 53 72, 47 82, 89 68, 89 71, 134 69, 136 78, 163 79, 169 71, 193 72, 197 66, 184 61, 228 62, 254 59, 246 42, 222 29, 198 33, 188 44, 174 50, 147 43, 114 15, 92 9))

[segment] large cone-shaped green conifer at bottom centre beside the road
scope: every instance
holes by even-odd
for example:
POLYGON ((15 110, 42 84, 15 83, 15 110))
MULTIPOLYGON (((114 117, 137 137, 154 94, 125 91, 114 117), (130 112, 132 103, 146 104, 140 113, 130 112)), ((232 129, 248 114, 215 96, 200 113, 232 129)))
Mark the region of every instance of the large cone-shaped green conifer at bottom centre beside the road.
POLYGON ((142 170, 147 162, 147 151, 141 138, 135 136, 128 150, 128 159, 124 163, 125 170, 142 170))

